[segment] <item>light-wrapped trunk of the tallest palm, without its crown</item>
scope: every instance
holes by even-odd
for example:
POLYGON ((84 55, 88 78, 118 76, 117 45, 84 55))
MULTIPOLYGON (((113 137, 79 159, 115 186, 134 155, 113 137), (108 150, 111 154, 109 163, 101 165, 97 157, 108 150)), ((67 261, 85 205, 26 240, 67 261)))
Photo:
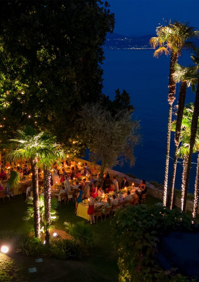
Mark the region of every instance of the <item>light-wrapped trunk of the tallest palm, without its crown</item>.
POLYGON ((166 163, 165 163, 165 178, 164 178, 164 194, 163 194, 163 206, 166 206, 167 202, 167 187, 168 187, 168 173, 169 173, 169 151, 171 140, 171 118, 172 118, 172 105, 175 100, 176 83, 173 80, 174 65, 177 63, 178 54, 171 53, 170 70, 169 70, 169 116, 168 116, 168 129, 167 129, 167 150, 166 150, 166 163))

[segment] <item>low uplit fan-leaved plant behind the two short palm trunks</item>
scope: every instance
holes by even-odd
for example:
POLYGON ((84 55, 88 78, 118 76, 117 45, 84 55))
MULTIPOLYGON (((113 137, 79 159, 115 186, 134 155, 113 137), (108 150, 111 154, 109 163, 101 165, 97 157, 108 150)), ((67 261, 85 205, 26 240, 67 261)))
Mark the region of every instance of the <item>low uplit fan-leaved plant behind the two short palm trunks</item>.
MULTIPOLYGON (((33 205, 33 198, 28 197, 27 204, 29 205, 27 207, 26 215, 24 216, 24 220, 28 221, 30 226, 30 232, 34 231, 34 205, 33 205)), ((49 222, 46 222, 45 220, 45 201, 44 197, 42 195, 39 196, 39 211, 40 211, 40 233, 46 233, 46 230, 52 230, 55 229, 55 226, 53 223, 57 221, 59 216, 57 215, 57 207, 59 205, 59 202, 55 198, 51 198, 51 205, 50 205, 50 220, 49 222)))

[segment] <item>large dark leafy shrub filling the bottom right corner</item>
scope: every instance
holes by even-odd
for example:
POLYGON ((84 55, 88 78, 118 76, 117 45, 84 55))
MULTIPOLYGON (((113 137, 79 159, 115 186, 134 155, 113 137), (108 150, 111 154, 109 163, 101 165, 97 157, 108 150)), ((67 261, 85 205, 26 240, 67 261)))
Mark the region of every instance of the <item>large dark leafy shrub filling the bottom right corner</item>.
POLYGON ((159 236, 195 228, 189 216, 177 209, 129 205, 115 213, 111 224, 113 246, 119 255, 119 281, 185 281, 174 271, 164 272, 156 254, 159 236))

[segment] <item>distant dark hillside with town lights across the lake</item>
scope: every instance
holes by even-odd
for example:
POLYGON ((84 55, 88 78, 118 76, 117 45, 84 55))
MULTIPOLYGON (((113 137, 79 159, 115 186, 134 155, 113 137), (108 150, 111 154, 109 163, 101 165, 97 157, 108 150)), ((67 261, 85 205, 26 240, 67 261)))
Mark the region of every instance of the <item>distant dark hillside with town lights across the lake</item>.
MULTIPOLYGON (((107 34, 104 49, 152 49, 149 44, 151 37, 155 34, 143 36, 125 36, 118 33, 107 34)), ((199 47, 199 38, 197 38, 196 46, 199 47)))

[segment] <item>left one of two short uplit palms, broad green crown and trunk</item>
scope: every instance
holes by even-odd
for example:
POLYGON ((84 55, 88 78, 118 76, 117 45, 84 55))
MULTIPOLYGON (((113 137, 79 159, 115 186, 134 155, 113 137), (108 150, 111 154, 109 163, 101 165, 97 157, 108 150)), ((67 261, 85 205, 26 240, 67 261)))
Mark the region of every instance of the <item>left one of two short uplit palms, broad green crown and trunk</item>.
POLYGON ((34 128, 25 126, 22 130, 17 130, 16 138, 9 140, 15 150, 8 153, 9 158, 30 160, 32 170, 32 189, 34 206, 34 230, 35 236, 40 237, 40 210, 38 201, 38 168, 37 163, 43 156, 50 156, 51 151, 47 147, 49 135, 45 132, 36 132, 34 128))

